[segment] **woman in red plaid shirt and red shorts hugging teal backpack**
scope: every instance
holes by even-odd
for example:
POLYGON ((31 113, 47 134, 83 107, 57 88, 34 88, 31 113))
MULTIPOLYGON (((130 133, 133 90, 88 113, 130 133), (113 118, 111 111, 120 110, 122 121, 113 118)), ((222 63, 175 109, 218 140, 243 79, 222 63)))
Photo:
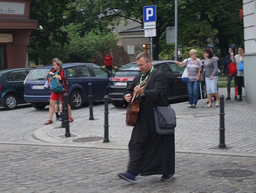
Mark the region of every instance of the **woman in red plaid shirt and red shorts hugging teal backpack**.
MULTIPOLYGON (((53 78, 57 78, 60 81, 60 84, 63 85, 63 87, 66 89, 66 93, 69 94, 68 88, 67 88, 67 79, 65 77, 64 69, 61 68, 62 62, 58 58, 53 59, 53 70, 49 72, 47 75, 47 79, 50 75, 53 75, 53 78)), ((54 114, 54 106, 56 102, 60 99, 60 102, 62 102, 63 94, 62 92, 52 92, 51 98, 50 98, 50 107, 49 107, 49 117, 48 120, 44 123, 45 125, 52 124, 53 123, 53 114, 54 114)), ((73 118, 71 116, 71 107, 69 104, 67 104, 69 107, 69 122, 73 122, 73 118)))

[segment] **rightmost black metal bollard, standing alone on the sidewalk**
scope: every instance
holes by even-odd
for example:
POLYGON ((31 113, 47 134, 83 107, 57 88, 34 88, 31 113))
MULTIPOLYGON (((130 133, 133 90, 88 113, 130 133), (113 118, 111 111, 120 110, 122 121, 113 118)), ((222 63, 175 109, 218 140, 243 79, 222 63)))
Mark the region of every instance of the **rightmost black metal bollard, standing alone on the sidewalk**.
POLYGON ((219 96, 221 100, 219 112, 219 148, 225 148, 225 124, 224 124, 224 95, 219 96))

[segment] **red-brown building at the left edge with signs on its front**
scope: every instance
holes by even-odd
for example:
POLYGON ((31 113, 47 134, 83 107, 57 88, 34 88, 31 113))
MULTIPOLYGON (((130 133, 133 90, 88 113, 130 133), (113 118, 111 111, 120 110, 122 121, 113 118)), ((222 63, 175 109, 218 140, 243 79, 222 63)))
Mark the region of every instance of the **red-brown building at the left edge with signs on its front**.
POLYGON ((29 19, 34 0, 0 1, 0 69, 25 67, 30 35, 38 21, 29 19))

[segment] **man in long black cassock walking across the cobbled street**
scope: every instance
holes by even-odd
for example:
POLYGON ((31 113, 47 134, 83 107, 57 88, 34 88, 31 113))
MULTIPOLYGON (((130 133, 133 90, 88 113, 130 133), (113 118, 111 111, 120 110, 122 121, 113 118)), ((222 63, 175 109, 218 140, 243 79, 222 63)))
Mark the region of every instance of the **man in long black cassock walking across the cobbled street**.
POLYGON ((123 100, 131 101, 135 91, 140 100, 138 118, 129 143, 130 162, 127 172, 120 173, 121 179, 134 182, 136 176, 162 174, 161 181, 171 180, 175 170, 174 133, 160 135, 155 129, 154 107, 167 107, 165 96, 167 79, 163 72, 154 69, 148 53, 139 53, 136 57, 141 71, 132 84, 124 91, 123 100), (146 87, 139 84, 146 79, 146 87))

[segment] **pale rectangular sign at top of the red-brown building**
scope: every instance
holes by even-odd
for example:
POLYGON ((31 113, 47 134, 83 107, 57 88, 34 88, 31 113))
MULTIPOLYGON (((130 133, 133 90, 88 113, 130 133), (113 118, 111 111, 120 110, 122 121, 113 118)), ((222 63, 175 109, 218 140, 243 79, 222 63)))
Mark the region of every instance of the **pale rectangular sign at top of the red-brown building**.
POLYGON ((13 3, 0 1, 0 14, 24 15, 26 3, 13 3))

